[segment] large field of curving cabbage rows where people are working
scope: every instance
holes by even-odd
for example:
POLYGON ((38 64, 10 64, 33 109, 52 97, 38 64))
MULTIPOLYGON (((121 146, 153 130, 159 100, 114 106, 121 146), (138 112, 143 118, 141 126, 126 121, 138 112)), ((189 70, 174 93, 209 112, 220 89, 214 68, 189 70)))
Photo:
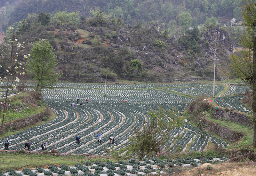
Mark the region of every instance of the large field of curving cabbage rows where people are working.
MULTIPOLYGON (((29 141, 33 143, 30 150, 38 151, 42 142, 48 142, 49 150, 54 148, 61 153, 104 155, 110 146, 121 148, 127 145, 128 138, 133 135, 132 130, 141 127, 143 122, 148 123, 150 109, 156 110, 162 105, 164 108, 177 108, 181 113, 193 100, 152 89, 159 85, 171 87, 171 84, 132 84, 127 86, 129 89, 125 89, 124 85, 109 85, 108 97, 103 96, 104 86, 97 84, 59 84, 62 88, 45 89, 44 100, 53 108, 57 117, 47 124, 1 139, 0 143, 8 139, 9 149, 19 150, 29 141), (81 88, 82 86, 84 87, 81 88), (78 104, 70 107, 72 102, 76 102, 77 97, 81 101, 89 98, 89 103, 85 103, 84 107, 78 104), (101 143, 96 140, 96 132, 102 135, 101 143), (77 135, 80 136, 80 144, 76 143, 77 135), (109 144, 110 136, 115 137, 114 145, 109 144)), ((179 85, 183 86, 183 84, 179 85)), ((174 86, 178 87, 178 84, 174 86)), ((205 85, 205 87, 209 86, 205 85)), ((223 86, 218 87, 220 90, 223 89, 223 86)), ((188 123, 172 130, 170 136, 168 145, 172 151, 177 147, 183 151, 201 149, 198 145, 199 132, 188 123), (174 139, 177 136, 181 138, 174 139)), ((228 146, 224 141, 207 134, 204 147, 210 141, 220 147, 228 146)))

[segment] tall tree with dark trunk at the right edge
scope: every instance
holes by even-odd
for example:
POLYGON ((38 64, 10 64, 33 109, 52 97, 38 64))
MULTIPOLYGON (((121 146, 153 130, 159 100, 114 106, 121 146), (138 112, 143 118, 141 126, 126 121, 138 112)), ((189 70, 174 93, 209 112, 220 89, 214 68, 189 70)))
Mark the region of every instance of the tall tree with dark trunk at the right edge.
POLYGON ((236 75, 253 87, 253 148, 256 148, 256 1, 244 0, 242 10, 246 34, 241 36, 239 44, 243 46, 243 50, 230 56, 233 62, 228 76, 236 75))

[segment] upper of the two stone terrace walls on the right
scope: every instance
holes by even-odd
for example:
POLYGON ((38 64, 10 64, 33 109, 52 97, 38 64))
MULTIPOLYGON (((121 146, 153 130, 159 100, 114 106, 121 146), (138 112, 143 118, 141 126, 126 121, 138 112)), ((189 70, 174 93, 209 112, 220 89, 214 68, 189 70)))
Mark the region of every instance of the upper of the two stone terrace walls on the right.
POLYGON ((226 120, 237 122, 239 124, 247 125, 247 126, 253 128, 253 124, 250 121, 250 117, 248 117, 244 114, 238 113, 238 112, 234 112, 234 111, 226 111, 226 110, 216 109, 212 113, 212 118, 226 119, 226 120))

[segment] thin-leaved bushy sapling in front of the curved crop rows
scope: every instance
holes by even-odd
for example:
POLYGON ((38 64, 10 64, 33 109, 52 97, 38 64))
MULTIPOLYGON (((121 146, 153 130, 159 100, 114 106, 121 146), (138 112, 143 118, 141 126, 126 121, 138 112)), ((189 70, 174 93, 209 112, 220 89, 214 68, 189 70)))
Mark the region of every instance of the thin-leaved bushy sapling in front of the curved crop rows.
MULTIPOLYGON (((183 124, 183 117, 178 116, 176 109, 164 109, 161 105, 156 110, 148 112, 149 123, 142 124, 142 128, 135 129, 135 135, 129 138, 129 144, 123 150, 114 151, 117 153, 125 152, 124 156, 138 157, 140 160, 144 156, 154 157, 159 155, 169 139, 172 129, 183 124)), ((114 153, 112 152, 112 153, 114 153)))

